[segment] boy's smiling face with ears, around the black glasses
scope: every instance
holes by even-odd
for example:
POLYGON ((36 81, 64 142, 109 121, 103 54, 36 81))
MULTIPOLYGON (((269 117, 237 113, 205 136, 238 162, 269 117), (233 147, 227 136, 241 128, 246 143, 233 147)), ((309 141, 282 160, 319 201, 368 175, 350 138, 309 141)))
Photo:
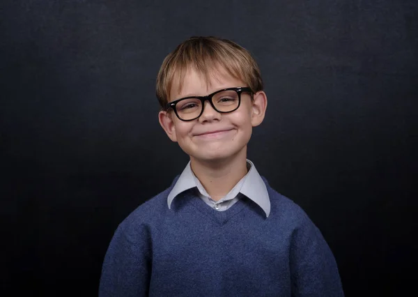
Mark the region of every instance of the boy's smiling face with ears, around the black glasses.
MULTIPOLYGON (((210 84, 206 84, 204 76, 189 69, 181 91, 178 91, 178 86, 171 89, 169 102, 187 96, 207 96, 236 86, 247 85, 226 74, 226 71, 215 73, 210 84)), ((265 93, 259 91, 254 94, 254 100, 249 93, 242 93, 240 107, 227 114, 217 112, 206 100, 203 114, 198 119, 181 121, 172 110, 160 112, 159 119, 169 138, 178 142, 192 160, 228 160, 240 153, 246 156, 252 128, 263 121, 266 107, 265 93)))

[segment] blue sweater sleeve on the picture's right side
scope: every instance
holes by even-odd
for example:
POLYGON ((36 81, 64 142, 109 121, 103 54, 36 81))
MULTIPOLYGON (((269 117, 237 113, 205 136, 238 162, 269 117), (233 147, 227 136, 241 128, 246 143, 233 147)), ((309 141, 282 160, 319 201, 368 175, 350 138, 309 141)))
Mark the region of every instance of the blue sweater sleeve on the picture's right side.
POLYGON ((344 296, 334 255, 306 213, 293 231, 290 255, 293 297, 344 296))

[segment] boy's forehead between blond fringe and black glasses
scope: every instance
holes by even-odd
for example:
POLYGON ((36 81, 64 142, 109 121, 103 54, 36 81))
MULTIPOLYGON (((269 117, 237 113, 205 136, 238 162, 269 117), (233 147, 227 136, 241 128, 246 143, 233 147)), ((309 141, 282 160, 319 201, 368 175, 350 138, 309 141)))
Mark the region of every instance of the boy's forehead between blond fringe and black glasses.
POLYGON ((208 73, 187 68, 183 75, 176 75, 173 79, 169 101, 186 96, 205 96, 219 89, 233 86, 243 86, 243 83, 224 68, 214 68, 208 73))

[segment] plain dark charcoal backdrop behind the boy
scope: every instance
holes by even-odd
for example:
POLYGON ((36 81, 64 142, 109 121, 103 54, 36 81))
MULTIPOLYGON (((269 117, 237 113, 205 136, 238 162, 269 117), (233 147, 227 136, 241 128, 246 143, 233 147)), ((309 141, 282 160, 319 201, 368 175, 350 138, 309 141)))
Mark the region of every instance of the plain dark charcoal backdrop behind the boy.
POLYGON ((417 6, 2 1, 4 289, 97 295, 118 223, 187 162, 157 122, 157 71, 215 35, 256 57, 269 105, 249 158, 323 232, 346 295, 417 291, 417 6))

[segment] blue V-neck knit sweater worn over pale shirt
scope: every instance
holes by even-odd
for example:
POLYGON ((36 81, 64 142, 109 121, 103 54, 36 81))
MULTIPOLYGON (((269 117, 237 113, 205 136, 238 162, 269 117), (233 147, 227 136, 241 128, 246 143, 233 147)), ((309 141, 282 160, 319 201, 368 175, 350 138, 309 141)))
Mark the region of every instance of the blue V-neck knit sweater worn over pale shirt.
POLYGON ((268 218, 242 197, 218 212, 176 183, 118 227, 99 296, 343 296, 330 248, 302 209, 268 185, 268 218))

